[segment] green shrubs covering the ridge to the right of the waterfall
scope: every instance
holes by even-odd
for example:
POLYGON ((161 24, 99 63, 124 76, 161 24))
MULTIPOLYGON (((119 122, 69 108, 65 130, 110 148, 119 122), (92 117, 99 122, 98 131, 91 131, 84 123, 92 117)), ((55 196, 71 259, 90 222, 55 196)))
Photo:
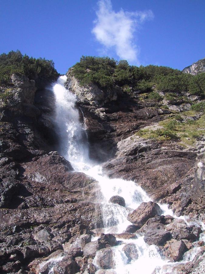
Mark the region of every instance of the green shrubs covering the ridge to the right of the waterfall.
POLYGON ((81 85, 95 83, 104 89, 118 85, 124 90, 188 91, 201 96, 205 90, 205 72, 193 76, 165 66, 131 66, 126 60, 118 62, 109 57, 82 56, 71 73, 81 85))

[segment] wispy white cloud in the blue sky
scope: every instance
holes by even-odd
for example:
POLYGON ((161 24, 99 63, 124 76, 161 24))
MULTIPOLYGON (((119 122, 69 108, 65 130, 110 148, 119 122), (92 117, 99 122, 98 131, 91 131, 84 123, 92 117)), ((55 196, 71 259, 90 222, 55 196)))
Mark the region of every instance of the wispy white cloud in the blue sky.
POLYGON ((115 12, 110 0, 98 1, 92 33, 104 49, 114 49, 121 59, 139 63, 139 47, 134 44, 134 33, 140 24, 154 17, 151 10, 145 12, 115 12))

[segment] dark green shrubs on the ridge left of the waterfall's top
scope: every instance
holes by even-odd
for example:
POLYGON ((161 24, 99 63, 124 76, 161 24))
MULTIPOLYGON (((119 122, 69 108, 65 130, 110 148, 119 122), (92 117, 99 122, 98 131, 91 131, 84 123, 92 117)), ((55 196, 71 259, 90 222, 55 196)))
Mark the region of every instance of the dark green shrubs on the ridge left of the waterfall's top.
POLYGON ((13 73, 26 75, 30 80, 53 81, 59 76, 52 60, 32 58, 17 51, 0 55, 0 83, 8 84, 13 73))

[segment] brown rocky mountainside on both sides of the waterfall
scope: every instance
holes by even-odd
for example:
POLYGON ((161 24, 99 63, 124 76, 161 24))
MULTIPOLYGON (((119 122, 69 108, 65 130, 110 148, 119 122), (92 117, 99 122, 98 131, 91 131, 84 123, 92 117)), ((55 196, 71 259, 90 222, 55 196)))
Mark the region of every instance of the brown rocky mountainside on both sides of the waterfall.
MULTIPOLYGON (((67 77, 66 86, 77 94, 84 114, 90 157, 103 162, 110 177, 141 185, 153 202, 142 203, 128 216, 133 225, 124 233, 101 234, 97 182, 74 172, 55 151, 53 93, 36 90, 35 82, 25 76, 12 75, 12 85, 1 87, 5 95, 0 106, 0 272, 49 273, 53 267, 55 274, 95 273, 93 258, 100 250, 98 273, 108 273, 103 269, 114 267, 111 247, 120 244, 116 238, 135 238, 137 230, 172 261, 198 246, 192 262, 175 265, 177 273, 196 270, 204 252, 201 230, 161 216, 155 202, 168 203, 178 216, 204 222, 204 136, 200 131, 192 137, 185 132, 188 137, 169 138, 165 133, 147 139, 140 130, 153 133, 167 119, 179 119, 179 114, 184 128, 188 121, 189 127, 198 123, 197 130, 204 130, 203 112, 191 111, 200 98, 176 93, 179 99, 167 100, 166 93, 160 93, 163 100, 156 102, 117 86, 106 91, 94 84, 81 87, 69 72, 67 77), (92 235, 98 239, 91 241, 92 235)), ((138 256, 132 244, 125 245, 124 252, 128 260, 138 256)))

